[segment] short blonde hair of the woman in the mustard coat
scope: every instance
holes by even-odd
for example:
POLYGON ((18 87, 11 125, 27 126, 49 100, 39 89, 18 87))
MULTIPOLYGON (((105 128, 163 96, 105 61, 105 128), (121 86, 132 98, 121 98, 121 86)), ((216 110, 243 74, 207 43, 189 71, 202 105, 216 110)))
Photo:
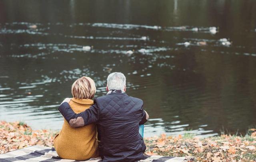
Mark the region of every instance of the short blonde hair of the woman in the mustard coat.
POLYGON ((96 92, 95 83, 90 77, 83 76, 73 83, 71 92, 76 99, 92 99, 96 92))

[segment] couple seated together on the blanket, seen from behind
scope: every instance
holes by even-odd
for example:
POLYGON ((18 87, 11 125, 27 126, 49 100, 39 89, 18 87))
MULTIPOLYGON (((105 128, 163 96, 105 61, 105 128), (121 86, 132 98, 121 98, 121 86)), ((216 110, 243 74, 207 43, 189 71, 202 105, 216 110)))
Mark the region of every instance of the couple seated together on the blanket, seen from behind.
POLYGON ((94 98, 96 87, 89 77, 72 85, 73 98, 59 106, 65 118, 54 139, 61 158, 87 160, 100 156, 103 162, 134 162, 145 159, 146 146, 139 125, 148 120, 143 101, 128 96, 126 78, 120 72, 109 74, 106 96, 94 98))

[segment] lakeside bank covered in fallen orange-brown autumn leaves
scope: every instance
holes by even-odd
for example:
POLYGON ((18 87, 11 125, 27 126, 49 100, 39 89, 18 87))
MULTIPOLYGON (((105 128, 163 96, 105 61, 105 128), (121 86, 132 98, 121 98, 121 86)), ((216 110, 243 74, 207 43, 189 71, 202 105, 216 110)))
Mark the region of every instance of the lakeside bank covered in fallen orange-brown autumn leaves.
MULTIPOLYGON (((0 154, 33 145, 53 146, 51 130, 32 130, 23 122, 0 121, 0 154)), ((178 137, 144 138, 146 154, 162 156, 195 156, 198 161, 256 161, 256 129, 246 136, 221 135, 196 138, 191 134, 178 137)))

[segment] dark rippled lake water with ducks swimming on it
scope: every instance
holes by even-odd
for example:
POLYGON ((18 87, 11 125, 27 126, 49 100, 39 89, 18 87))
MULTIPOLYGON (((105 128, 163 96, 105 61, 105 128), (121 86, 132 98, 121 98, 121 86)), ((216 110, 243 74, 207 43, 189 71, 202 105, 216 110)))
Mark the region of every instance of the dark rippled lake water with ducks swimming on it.
POLYGON ((103 96, 110 72, 144 100, 145 136, 244 134, 256 126, 256 1, 0 2, 0 120, 59 130, 72 83, 89 76, 103 96))

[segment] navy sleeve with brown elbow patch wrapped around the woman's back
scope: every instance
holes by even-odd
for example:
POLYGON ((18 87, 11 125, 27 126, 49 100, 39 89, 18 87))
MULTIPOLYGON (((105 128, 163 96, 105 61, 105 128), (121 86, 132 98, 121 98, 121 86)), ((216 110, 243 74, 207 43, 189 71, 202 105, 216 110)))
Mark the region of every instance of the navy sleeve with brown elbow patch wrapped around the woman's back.
POLYGON ((99 108, 95 101, 90 108, 79 114, 74 113, 68 102, 62 103, 58 110, 72 127, 86 126, 99 120, 99 108))

